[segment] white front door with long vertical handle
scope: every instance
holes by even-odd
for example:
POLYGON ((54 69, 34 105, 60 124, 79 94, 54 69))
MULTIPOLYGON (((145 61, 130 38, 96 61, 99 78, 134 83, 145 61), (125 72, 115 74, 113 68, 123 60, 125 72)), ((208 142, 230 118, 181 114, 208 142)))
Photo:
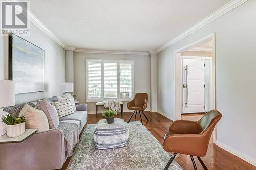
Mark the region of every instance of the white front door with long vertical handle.
POLYGON ((183 113, 205 112, 204 59, 182 59, 183 113))

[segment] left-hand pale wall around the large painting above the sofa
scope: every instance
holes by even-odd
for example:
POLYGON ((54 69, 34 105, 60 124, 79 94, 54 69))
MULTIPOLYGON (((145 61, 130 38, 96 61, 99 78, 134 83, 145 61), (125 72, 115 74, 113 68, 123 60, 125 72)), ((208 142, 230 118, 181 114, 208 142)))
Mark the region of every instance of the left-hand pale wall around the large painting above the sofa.
MULTIPOLYGON (((65 50, 31 22, 30 35, 21 36, 45 50, 45 91, 16 94, 16 103, 61 95, 65 82, 65 50)), ((0 79, 8 80, 8 36, 0 36, 0 79)))

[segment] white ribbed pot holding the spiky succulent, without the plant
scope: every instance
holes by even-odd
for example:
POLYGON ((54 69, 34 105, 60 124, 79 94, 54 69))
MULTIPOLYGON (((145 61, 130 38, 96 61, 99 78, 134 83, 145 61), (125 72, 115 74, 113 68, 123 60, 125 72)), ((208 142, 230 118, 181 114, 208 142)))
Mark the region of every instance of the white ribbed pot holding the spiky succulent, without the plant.
POLYGON ((6 125, 6 135, 8 137, 18 137, 25 132, 25 122, 16 125, 6 125))

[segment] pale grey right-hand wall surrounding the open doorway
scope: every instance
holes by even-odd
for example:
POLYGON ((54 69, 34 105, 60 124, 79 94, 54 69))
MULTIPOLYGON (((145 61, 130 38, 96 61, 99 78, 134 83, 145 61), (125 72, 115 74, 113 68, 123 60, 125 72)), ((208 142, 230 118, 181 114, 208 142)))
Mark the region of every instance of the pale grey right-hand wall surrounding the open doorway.
POLYGON ((256 1, 247 1, 157 54, 158 111, 174 118, 174 52, 216 38, 217 144, 256 165, 256 1))

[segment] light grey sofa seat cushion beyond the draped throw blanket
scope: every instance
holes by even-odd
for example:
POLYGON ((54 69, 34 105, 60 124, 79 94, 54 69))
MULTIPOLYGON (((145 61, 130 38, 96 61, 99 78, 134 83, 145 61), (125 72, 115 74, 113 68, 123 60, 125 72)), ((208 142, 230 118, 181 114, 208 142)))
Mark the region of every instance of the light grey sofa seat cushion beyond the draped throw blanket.
POLYGON ((73 114, 59 118, 59 121, 78 120, 80 122, 80 132, 87 122, 87 111, 75 111, 73 114))

